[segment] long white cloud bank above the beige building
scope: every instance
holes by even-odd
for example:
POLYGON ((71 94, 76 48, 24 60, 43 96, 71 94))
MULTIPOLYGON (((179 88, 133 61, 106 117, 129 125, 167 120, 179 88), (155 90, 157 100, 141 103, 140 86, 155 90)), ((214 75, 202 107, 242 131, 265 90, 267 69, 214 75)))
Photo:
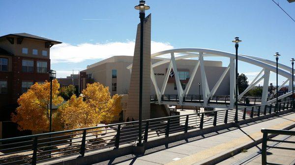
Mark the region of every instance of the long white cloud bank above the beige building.
MULTIPOLYGON (((50 50, 51 63, 72 62, 79 63, 89 59, 106 59, 112 56, 133 56, 135 42, 109 42, 96 44, 71 45, 62 43, 50 50)), ((151 53, 172 49, 170 43, 151 41, 151 53)))

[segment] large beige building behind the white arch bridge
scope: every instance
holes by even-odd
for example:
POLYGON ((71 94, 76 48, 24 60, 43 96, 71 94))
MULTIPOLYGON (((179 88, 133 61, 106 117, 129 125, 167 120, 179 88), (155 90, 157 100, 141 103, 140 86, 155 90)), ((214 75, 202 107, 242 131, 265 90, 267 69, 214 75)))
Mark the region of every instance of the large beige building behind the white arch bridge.
MULTIPOLYGON (((151 63, 162 61, 162 58, 153 58, 151 63)), ((92 78, 94 82, 99 82, 104 86, 108 86, 111 94, 128 94, 131 73, 127 67, 132 64, 133 56, 113 56, 111 58, 102 60, 87 66, 85 72, 88 78, 92 78)), ((177 60, 177 70, 182 87, 185 88, 191 72, 193 71, 198 60, 177 60)), ((218 81, 221 74, 226 67, 222 67, 221 61, 204 61, 205 70, 209 89, 211 90, 218 81)), ((169 63, 153 68, 155 78, 159 87, 162 86, 165 73, 168 69, 169 63)), ((192 86, 188 94, 199 94, 199 83, 201 83, 201 71, 197 70, 196 76, 192 82, 192 86)), ((230 75, 229 72, 221 82, 215 95, 229 95, 230 91, 230 75)), ((200 93, 202 94, 202 83, 200 86, 200 93)), ((155 94, 154 86, 150 82, 150 94, 155 94)), ((165 94, 177 94, 175 78, 168 79, 165 94)))

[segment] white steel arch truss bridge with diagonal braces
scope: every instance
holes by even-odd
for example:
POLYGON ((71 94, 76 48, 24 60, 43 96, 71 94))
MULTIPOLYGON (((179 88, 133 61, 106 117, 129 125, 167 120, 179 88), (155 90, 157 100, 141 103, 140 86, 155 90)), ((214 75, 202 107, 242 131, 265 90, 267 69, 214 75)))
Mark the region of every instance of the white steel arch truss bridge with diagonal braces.
MULTIPOLYGON (((170 58, 162 58, 162 61, 151 64, 150 78, 153 83, 156 96, 151 96, 151 102, 156 104, 169 104, 169 105, 189 105, 189 106, 200 106, 200 107, 212 107, 212 108, 233 108, 235 104, 235 87, 236 87, 236 54, 205 49, 205 48, 178 48, 160 51, 157 53, 151 54, 151 58, 155 58, 161 55, 169 55, 170 58), (177 57, 175 56, 177 54, 177 57), (230 59, 230 63, 225 71, 221 74, 218 81, 214 85, 214 87, 209 90, 206 70, 204 66, 204 57, 227 57, 230 59), (169 73, 171 70, 177 72, 177 64, 176 61, 180 59, 188 59, 188 58, 198 58, 196 60, 195 67, 191 72, 190 79, 183 90, 181 87, 181 83, 179 80, 178 74, 175 74, 176 86, 177 86, 177 94, 167 95, 165 93, 166 85, 169 78, 169 73), (153 68, 159 65, 163 65, 169 63, 168 70, 164 76, 164 83, 161 87, 157 85, 157 81, 154 75, 153 68), (200 67, 201 71, 201 83, 202 83, 202 96, 200 95, 188 95, 190 87, 192 85, 193 79, 196 75, 198 68, 200 67), (230 72, 230 95, 225 97, 214 96, 216 90, 219 88, 222 80, 225 78, 227 72, 230 72)), ((270 71, 276 72, 276 62, 249 56, 249 55, 238 55, 238 60, 243 61, 248 64, 252 64, 261 68, 261 71, 257 74, 254 80, 249 84, 245 91, 241 94, 238 94, 237 98, 239 100, 238 105, 245 105, 244 94, 246 94, 249 90, 254 88, 260 81, 263 81, 263 93, 261 98, 253 98, 255 100, 251 100, 251 102, 256 102, 259 104, 272 103, 276 101, 276 98, 268 96, 268 84, 269 84, 269 74, 270 71), (257 99, 257 100, 256 100, 257 99)), ((131 71, 132 64, 127 67, 131 71)), ((283 64, 278 64, 278 74, 285 78, 285 81, 282 85, 279 86, 278 90, 280 90, 283 86, 289 83, 289 91, 286 94, 280 95, 278 99, 286 99, 288 96, 292 94, 292 68, 283 64)), ((276 93, 276 91, 274 92, 276 93)), ((248 98, 249 99, 249 98, 248 98)), ((256 104, 254 103, 254 104, 256 104)))

